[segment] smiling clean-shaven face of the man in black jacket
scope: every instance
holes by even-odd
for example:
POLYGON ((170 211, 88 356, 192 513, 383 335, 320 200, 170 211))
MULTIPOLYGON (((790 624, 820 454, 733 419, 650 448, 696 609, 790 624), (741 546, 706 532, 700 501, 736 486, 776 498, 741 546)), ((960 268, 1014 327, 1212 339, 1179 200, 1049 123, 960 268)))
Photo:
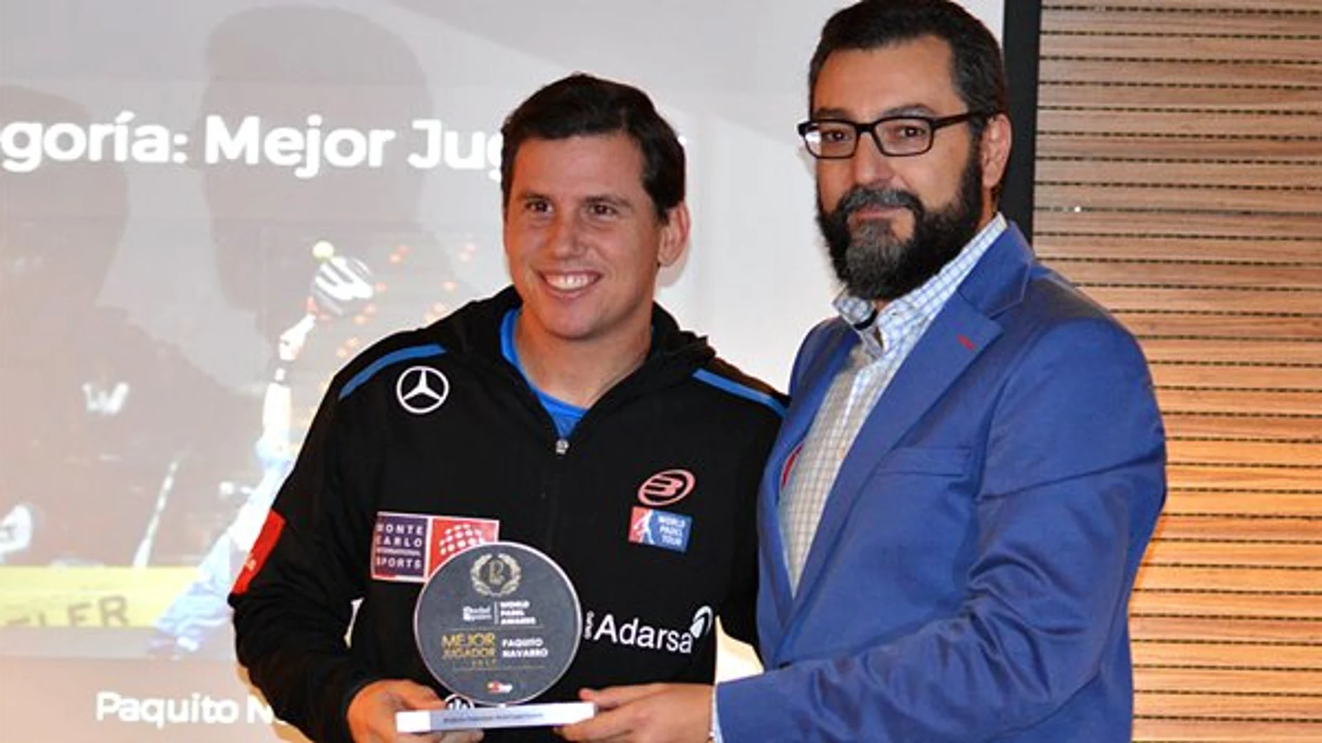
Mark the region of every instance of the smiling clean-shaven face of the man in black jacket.
POLYGON ((627 135, 526 140, 505 211, 521 335, 543 347, 645 347, 657 272, 678 260, 689 234, 682 202, 666 216, 657 218, 642 152, 627 135))

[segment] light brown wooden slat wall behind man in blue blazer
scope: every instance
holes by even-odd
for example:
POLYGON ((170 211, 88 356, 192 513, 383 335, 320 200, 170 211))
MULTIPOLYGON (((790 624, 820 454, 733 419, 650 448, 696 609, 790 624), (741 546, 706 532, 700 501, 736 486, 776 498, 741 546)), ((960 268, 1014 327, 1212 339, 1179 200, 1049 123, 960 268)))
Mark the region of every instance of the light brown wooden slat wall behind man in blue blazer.
POLYGON ((1142 340, 1134 739, 1322 742, 1322 0, 1043 3, 1035 243, 1142 340))

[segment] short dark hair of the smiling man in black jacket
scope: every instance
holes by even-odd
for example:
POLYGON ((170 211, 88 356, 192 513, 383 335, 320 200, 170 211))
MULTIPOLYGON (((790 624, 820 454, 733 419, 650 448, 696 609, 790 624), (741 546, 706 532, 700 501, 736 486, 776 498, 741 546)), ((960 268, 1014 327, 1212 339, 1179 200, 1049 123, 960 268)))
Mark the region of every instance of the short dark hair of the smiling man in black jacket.
POLYGON ((685 154, 680 137, 641 90, 575 73, 534 92, 505 119, 500 133, 500 191, 509 207, 514 157, 529 139, 562 140, 623 132, 642 152, 642 189, 666 222, 683 201, 685 154))

